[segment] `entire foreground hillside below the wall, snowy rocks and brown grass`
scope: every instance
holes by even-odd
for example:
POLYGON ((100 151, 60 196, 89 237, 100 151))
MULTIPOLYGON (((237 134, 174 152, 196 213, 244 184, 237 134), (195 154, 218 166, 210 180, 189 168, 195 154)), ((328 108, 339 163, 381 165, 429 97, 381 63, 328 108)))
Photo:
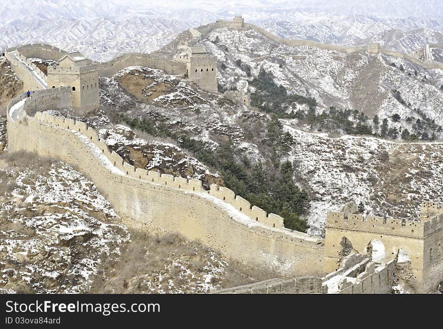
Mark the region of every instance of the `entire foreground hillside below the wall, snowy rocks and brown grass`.
POLYGON ((274 278, 120 218, 95 185, 35 154, 0 155, 0 293, 206 293, 274 278))

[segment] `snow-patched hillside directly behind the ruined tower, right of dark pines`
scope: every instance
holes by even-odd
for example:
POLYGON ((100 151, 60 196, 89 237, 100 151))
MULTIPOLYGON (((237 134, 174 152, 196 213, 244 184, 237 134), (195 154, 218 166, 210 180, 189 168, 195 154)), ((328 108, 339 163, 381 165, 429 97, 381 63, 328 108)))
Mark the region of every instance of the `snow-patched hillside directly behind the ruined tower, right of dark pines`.
POLYGON ((284 126, 294 137, 289 160, 312 197, 310 233, 322 235, 327 211, 348 201, 367 214, 417 219, 422 200, 443 197, 443 145, 377 138, 328 138, 284 126))

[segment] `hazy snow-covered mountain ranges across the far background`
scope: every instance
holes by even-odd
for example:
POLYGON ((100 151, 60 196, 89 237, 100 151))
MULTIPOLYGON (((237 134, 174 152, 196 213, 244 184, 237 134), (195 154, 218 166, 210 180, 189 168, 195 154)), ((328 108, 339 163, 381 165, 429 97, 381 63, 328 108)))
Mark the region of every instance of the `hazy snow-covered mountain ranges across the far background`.
POLYGON ((358 45, 380 42, 413 52, 443 39, 443 6, 434 0, 388 5, 370 2, 263 1, 168 2, 4 0, 0 48, 45 42, 79 50, 96 60, 123 52, 151 52, 179 32, 241 14, 280 37, 358 45))

